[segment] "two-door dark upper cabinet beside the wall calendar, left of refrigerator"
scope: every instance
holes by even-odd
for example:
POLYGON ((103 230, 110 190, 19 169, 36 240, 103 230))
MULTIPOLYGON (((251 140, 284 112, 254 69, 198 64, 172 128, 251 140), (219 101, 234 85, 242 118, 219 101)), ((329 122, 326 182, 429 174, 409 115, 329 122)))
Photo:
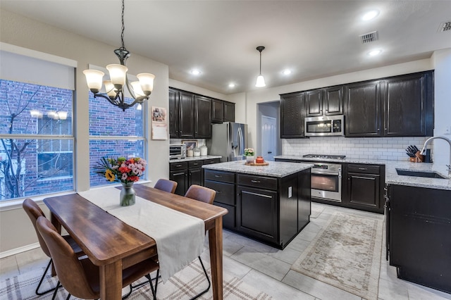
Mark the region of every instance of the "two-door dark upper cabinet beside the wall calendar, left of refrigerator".
POLYGON ((194 94, 169 89, 169 137, 194 138, 194 94))

